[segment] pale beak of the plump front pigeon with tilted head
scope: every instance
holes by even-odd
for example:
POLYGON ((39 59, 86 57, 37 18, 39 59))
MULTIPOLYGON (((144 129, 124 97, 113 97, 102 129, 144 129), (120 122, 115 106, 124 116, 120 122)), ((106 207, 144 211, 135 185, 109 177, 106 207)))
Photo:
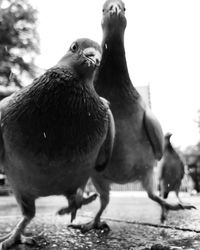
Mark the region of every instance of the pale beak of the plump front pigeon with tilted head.
POLYGON ((101 53, 94 48, 86 48, 83 50, 83 55, 87 59, 88 67, 99 66, 101 62, 101 53))

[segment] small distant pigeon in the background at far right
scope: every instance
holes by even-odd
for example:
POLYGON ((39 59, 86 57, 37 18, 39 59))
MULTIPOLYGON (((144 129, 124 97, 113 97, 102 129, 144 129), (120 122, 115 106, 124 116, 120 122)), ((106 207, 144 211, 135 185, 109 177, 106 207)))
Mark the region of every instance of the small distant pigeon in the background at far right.
POLYGON ((178 201, 182 203, 179 197, 179 190, 185 168, 183 160, 170 142, 171 136, 171 133, 165 135, 164 154, 158 164, 159 190, 161 197, 164 199, 168 197, 169 192, 175 191, 178 201))

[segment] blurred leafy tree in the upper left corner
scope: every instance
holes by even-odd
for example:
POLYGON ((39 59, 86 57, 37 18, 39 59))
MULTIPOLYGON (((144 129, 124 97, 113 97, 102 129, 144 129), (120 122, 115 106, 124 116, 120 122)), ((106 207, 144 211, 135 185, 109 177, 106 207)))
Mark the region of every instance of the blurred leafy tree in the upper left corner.
POLYGON ((36 15, 27 0, 0 0, 0 85, 21 87, 35 77, 36 15))

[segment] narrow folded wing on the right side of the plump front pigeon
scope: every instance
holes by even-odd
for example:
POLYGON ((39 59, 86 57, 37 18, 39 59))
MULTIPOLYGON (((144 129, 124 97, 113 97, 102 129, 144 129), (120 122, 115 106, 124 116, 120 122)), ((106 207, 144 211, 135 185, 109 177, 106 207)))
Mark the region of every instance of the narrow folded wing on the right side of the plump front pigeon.
POLYGON ((103 171, 108 165, 112 156, 114 138, 115 138, 115 122, 112 112, 109 108, 109 102, 102 97, 101 100, 104 103, 104 105, 106 105, 108 108, 108 129, 107 129, 106 139, 100 148, 95 164, 95 169, 98 172, 103 171))

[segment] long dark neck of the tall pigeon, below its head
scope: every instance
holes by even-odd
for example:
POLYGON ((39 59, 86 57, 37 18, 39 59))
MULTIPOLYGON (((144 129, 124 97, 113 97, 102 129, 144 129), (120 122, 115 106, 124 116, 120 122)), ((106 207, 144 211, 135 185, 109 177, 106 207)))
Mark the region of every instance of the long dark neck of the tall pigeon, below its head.
POLYGON ((133 87, 127 68, 124 33, 104 33, 102 41, 102 60, 95 76, 97 93, 108 99, 113 105, 122 100, 130 106, 138 99, 137 90, 133 87))

